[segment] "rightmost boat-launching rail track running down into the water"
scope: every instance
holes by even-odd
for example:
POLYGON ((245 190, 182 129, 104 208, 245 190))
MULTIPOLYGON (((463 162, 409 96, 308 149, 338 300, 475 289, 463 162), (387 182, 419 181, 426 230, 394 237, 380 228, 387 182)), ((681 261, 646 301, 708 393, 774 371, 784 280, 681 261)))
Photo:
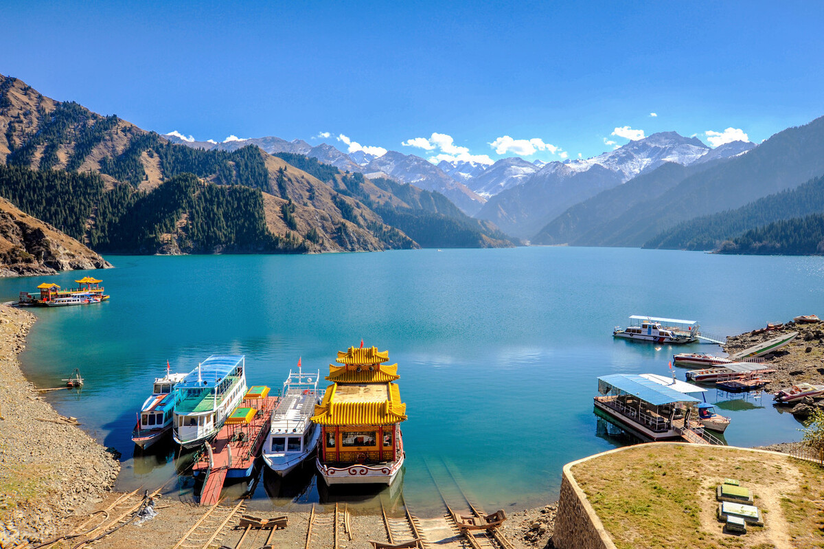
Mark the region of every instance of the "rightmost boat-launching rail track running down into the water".
MULTIPOLYGON (((424 464, 426 465, 429 477, 435 485, 435 489, 438 491, 442 504, 446 508, 443 519, 449 524, 452 531, 457 533, 457 541, 461 543, 461 547, 471 547, 471 549, 513 549, 507 539, 499 533, 498 528, 491 530, 465 530, 461 532, 455 519, 456 514, 485 517, 486 513, 480 509, 480 507, 473 504, 469 497, 467 497, 466 492, 446 462, 441 462, 435 472, 433 472, 433 468, 430 467, 429 463, 425 460, 424 464), (450 501, 452 504, 450 504, 450 501)), ((424 542, 426 545, 430 543, 425 525, 424 542)), ((438 547, 444 547, 442 542, 438 542, 438 547)))

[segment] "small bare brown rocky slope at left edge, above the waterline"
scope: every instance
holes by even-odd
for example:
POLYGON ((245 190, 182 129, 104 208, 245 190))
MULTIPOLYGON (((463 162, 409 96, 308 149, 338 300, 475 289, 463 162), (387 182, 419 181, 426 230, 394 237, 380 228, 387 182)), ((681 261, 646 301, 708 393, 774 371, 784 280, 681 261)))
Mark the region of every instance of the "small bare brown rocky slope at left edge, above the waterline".
POLYGON ((0 198, 0 276, 107 267, 110 263, 87 246, 0 198))

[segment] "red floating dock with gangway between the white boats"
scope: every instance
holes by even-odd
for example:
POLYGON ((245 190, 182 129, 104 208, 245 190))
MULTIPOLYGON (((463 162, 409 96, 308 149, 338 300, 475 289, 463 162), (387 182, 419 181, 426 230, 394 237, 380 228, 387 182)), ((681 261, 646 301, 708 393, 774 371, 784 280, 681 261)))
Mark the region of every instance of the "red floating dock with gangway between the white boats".
POLYGON ((220 500, 227 478, 246 478, 255 467, 263 443, 269 435, 271 416, 278 397, 269 397, 269 387, 250 387, 217 436, 192 467, 195 478, 204 478, 200 504, 220 500))

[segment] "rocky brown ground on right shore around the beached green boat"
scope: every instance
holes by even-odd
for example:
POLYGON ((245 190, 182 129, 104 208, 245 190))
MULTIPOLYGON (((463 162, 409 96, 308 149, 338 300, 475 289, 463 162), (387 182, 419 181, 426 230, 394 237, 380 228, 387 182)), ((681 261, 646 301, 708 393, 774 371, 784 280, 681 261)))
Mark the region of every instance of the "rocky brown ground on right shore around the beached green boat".
POLYGON ((824 383, 824 324, 822 323, 795 324, 789 321, 780 330, 766 331, 763 334, 746 332, 740 336, 730 336, 723 350, 732 354, 791 331, 798 331, 798 336, 780 350, 764 357, 765 364, 777 370, 776 373, 766 376, 772 380, 765 387, 766 390, 774 393, 798 382, 824 383))

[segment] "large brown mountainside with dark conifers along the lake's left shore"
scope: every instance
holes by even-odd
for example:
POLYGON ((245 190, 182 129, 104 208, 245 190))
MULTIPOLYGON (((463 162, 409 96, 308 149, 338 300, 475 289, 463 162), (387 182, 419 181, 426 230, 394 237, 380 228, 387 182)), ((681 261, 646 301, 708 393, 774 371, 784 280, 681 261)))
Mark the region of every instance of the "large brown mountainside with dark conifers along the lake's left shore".
MULTIPOLYGON (((75 185, 64 185, 71 189, 69 195, 82 195, 82 208, 78 210, 66 206, 61 211, 55 211, 52 208, 55 202, 43 199, 46 195, 56 196, 54 188, 45 189, 43 186, 52 185, 50 181, 54 178, 47 177, 49 181, 41 181, 43 178, 40 176, 23 176, 23 179, 35 184, 17 183, 16 194, 11 191, 0 193, 32 215, 40 216, 40 210, 48 206, 51 209, 43 213, 44 220, 95 249, 108 250, 111 242, 129 242, 130 235, 118 236, 106 232, 122 226, 112 223, 112 216, 124 215, 124 208, 130 208, 130 204, 151 203, 152 200, 143 198, 143 195, 151 195, 165 181, 185 173, 194 174, 205 183, 259 190, 265 226, 279 242, 277 251, 376 251, 419 246, 402 230, 385 223, 381 214, 363 202, 363 197, 347 192, 346 185, 340 183, 343 174, 335 168, 331 168, 336 174, 329 181, 321 181, 254 145, 232 150, 205 150, 169 143, 166 138, 120 120, 115 115, 104 117, 77 103, 54 101, 16 78, 2 76, 0 159, 5 160, 8 167, 28 169, 31 174, 48 171, 96 174, 96 181, 84 180, 76 181, 75 185), (39 209, 37 213, 35 209, 39 209), (101 227, 99 212, 109 215, 105 228, 101 227), (68 231, 69 226, 73 230, 78 227, 81 230, 73 233, 68 231)), ((376 188, 374 194, 382 197, 379 203, 390 213, 394 213, 396 204, 402 207, 403 201, 393 199, 390 191, 376 188)), ((227 195, 212 190, 199 192, 198 195, 224 202, 227 199, 227 195)), ((63 204, 66 196, 60 195, 61 199, 56 204, 63 204)), ((256 204, 254 199, 245 202, 252 203, 256 204)), ((219 218, 215 226, 227 222, 227 216, 230 216, 228 209, 220 209, 217 203, 202 205, 204 209, 201 213, 208 214, 206 217, 215 218, 217 215, 219 218)), ((256 211, 246 213, 251 218, 257 215, 256 211)), ((184 220, 188 219, 187 213, 184 220)), ((424 219, 418 221, 424 222, 424 219)), ((486 234, 489 231, 479 227, 474 229, 477 232, 475 237, 464 239, 461 245, 512 245, 502 239, 490 238, 486 234)), ((144 233, 152 229, 137 228, 138 232, 144 233)), ((238 245, 232 241, 190 242, 191 235, 188 233, 189 240, 183 242, 185 246, 176 246, 171 243, 175 240, 170 236, 173 232, 155 230, 152 237, 147 238, 138 249, 117 249, 135 253, 270 251, 270 246, 260 246, 260 241, 254 239, 253 246, 238 245), (151 246, 145 247, 151 242, 162 244, 154 250, 151 246)), ((209 233, 232 236, 232 231, 209 233)), ((432 245, 447 246, 449 242, 447 238, 432 245)))

